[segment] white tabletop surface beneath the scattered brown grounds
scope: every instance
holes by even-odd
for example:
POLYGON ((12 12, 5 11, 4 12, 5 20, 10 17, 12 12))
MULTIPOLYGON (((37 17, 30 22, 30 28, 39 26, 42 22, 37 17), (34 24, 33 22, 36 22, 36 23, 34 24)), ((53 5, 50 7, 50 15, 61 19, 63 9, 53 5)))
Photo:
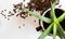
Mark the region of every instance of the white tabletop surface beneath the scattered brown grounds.
MULTIPOLYGON (((0 0, 0 11, 4 9, 12 10, 12 4, 21 1, 23 0, 0 0)), ((64 0, 62 2, 64 3, 64 0)), ((37 39, 41 32, 36 31, 38 20, 36 23, 34 23, 34 20, 37 18, 28 17, 23 20, 14 15, 8 21, 0 15, 0 39, 37 39), (25 26, 23 26, 23 24, 25 24, 25 26), (18 26, 21 26, 21 29, 18 26)), ((52 37, 49 36, 47 39, 52 39, 52 37)))

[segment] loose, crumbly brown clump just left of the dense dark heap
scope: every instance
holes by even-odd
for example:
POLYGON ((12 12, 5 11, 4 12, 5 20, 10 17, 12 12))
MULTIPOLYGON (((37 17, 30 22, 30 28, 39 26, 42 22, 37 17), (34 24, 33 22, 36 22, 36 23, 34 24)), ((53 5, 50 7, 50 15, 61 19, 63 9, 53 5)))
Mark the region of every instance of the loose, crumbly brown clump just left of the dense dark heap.
POLYGON ((18 12, 18 14, 16 16, 20 15, 21 17, 25 18, 25 17, 28 16, 28 14, 26 12, 23 12, 22 11, 22 4, 23 4, 22 2, 18 3, 18 4, 13 4, 13 6, 14 6, 13 12, 14 13, 17 13, 18 12))

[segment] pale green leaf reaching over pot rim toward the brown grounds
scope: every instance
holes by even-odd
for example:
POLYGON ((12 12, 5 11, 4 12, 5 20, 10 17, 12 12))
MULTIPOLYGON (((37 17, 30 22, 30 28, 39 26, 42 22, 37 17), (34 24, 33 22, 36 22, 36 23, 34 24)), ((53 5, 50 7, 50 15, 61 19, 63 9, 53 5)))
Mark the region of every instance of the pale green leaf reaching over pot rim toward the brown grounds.
POLYGON ((22 8, 24 10, 24 12, 27 12, 29 14, 31 14, 32 16, 46 22, 46 23, 51 23, 51 18, 48 18, 48 17, 44 17, 44 16, 41 16, 38 12, 31 12, 29 11, 28 9, 25 9, 25 8, 22 8))

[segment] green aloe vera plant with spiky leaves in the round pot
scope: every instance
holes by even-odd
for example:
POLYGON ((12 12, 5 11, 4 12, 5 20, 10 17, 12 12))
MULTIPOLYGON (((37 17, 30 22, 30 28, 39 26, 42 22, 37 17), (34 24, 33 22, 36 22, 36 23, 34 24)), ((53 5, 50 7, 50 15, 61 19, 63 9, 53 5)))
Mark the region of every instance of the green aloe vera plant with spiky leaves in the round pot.
POLYGON ((51 11, 50 11, 50 17, 48 18, 46 16, 41 16, 38 14, 38 12, 31 12, 26 8, 22 8, 22 11, 27 12, 31 14, 35 17, 38 17, 39 20, 50 24, 50 26, 39 36, 38 39, 44 39, 51 31, 53 31, 53 39, 58 35, 61 39, 65 39, 65 31, 63 30, 62 26, 60 25, 60 22, 65 20, 65 13, 63 13, 60 17, 56 17, 54 12, 54 4, 51 2, 51 11))

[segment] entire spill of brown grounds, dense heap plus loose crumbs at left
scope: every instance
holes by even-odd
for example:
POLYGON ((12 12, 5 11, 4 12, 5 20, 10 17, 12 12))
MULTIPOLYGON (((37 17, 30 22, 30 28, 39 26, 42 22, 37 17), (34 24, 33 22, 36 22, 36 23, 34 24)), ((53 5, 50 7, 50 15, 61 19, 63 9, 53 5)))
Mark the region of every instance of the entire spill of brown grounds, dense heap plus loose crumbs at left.
MULTIPOLYGON (((24 2, 25 2, 25 0, 24 0, 24 2)), ((35 11, 39 12, 40 14, 42 14, 42 12, 44 12, 47 9, 50 8, 50 1, 49 0, 30 0, 27 4, 28 4, 27 6, 25 6, 25 4, 23 5, 23 2, 20 2, 17 4, 13 4, 13 12, 12 11, 9 11, 8 16, 12 16, 12 15, 15 15, 15 14, 16 14, 16 16, 20 15, 23 18, 28 17, 28 15, 31 16, 30 14, 27 14, 26 12, 23 12, 22 6, 25 6, 25 8, 29 9, 29 11, 35 10, 35 11)), ((3 11, 6 11, 6 10, 3 10, 3 11)), ((4 14, 2 14, 2 15, 5 16, 4 14)))

